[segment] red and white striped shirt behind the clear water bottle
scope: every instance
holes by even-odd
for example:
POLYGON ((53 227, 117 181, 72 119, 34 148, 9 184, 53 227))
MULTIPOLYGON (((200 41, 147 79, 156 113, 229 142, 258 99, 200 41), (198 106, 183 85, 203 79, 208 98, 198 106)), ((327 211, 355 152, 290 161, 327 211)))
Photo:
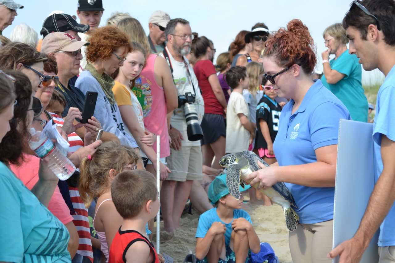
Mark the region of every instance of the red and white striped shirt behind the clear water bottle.
MULTIPOLYGON (((64 120, 59 115, 55 113, 49 113, 52 116, 53 121, 59 127, 62 127, 64 124, 64 120)), ((84 147, 84 142, 77 135, 77 133, 73 132, 68 135, 68 142, 70 147, 68 152, 75 152, 78 148, 84 147)), ((79 195, 78 188, 74 188, 69 186, 71 203, 73 204, 73 208, 75 210, 75 214, 72 214, 73 223, 78 232, 79 237, 79 245, 77 254, 89 257, 90 261, 93 262, 93 252, 92 252, 92 241, 90 240, 90 228, 89 228, 89 219, 88 219, 88 210, 85 208, 85 205, 79 195)))

